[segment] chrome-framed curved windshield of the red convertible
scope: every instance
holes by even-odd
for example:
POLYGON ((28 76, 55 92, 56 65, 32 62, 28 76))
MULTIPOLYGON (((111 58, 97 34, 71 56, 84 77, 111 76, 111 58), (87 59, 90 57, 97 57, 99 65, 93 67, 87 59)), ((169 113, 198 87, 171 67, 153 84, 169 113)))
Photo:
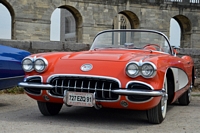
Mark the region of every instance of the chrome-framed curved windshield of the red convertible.
POLYGON ((152 30, 109 30, 99 33, 91 47, 146 49, 171 53, 167 37, 152 30))

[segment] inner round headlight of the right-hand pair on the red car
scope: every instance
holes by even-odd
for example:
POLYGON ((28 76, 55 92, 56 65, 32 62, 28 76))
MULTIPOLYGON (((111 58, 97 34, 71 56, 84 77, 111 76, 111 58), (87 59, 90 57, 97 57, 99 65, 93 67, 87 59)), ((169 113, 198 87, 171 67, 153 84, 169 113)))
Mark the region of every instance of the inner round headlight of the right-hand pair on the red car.
POLYGON ((138 65, 135 63, 130 63, 126 67, 126 73, 129 77, 136 77, 139 74, 139 68, 138 65))

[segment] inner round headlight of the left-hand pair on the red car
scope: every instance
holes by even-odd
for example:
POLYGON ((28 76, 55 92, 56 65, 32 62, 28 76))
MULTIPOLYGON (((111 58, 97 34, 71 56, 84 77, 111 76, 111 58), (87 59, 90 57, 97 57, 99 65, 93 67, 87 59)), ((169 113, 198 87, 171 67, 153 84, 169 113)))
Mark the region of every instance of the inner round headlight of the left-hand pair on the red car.
POLYGON ((44 72, 47 68, 48 62, 44 58, 38 58, 34 62, 34 68, 37 72, 44 72))

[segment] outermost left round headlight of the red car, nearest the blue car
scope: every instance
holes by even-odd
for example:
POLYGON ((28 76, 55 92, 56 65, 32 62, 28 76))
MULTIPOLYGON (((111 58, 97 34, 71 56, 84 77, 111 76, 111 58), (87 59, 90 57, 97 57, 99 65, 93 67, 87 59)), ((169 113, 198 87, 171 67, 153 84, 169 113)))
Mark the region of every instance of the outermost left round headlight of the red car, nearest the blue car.
POLYGON ((31 58, 25 58, 22 61, 22 68, 25 72, 31 72, 33 70, 33 61, 31 58))

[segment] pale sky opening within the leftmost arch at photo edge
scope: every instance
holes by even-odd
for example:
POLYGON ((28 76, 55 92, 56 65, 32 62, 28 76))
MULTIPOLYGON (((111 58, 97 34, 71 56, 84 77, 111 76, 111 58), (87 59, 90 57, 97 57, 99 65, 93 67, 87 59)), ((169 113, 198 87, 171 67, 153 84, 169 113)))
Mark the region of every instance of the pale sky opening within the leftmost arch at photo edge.
POLYGON ((10 12, 0 3, 0 39, 11 39, 11 27, 10 12))

